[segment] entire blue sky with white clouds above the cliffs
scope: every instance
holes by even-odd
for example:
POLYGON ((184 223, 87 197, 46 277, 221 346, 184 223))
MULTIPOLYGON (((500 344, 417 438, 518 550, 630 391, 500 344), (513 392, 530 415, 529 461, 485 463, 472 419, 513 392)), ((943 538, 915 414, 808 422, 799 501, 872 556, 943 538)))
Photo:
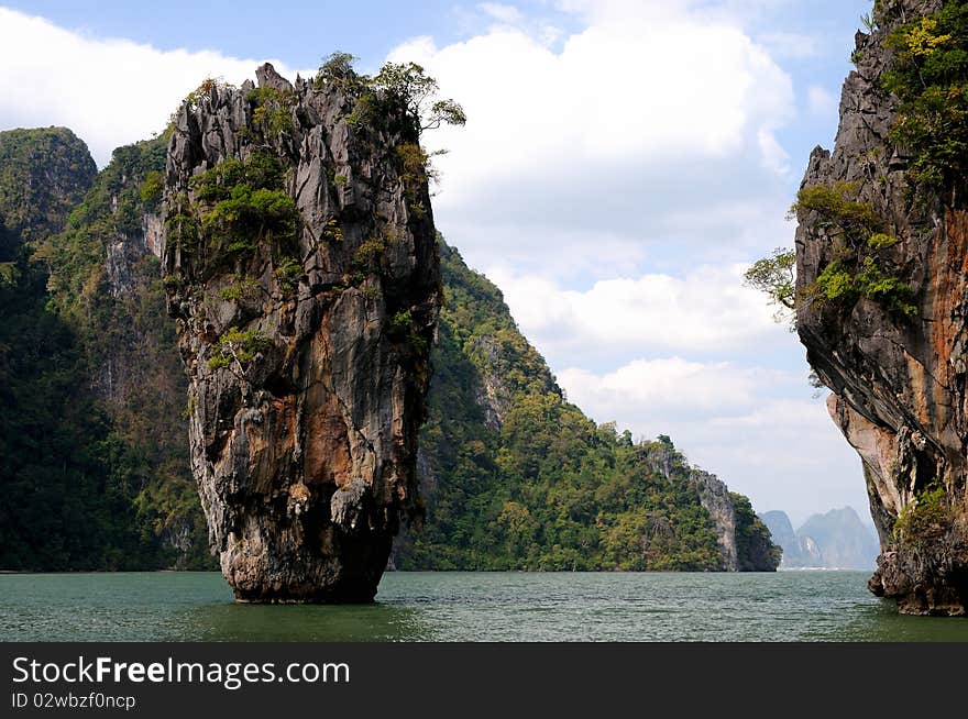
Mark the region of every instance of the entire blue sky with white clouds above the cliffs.
POLYGON ((744 269, 831 147, 869 0, 0 0, 0 130, 66 125, 100 166, 201 79, 331 52, 418 62, 466 110, 426 135, 438 229, 505 294, 569 399, 794 524, 853 506, 857 455, 744 269))

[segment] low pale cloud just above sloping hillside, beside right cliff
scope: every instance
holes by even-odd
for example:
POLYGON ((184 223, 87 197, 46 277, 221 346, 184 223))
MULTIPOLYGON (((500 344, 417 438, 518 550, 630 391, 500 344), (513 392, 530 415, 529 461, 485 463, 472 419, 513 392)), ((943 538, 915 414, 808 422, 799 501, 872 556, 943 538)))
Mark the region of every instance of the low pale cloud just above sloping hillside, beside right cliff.
POLYGON ((676 357, 602 375, 566 369, 558 378, 596 420, 640 438, 671 435, 757 511, 783 509, 794 523, 834 506, 867 511, 860 462, 824 402, 807 398, 803 375, 676 357))

